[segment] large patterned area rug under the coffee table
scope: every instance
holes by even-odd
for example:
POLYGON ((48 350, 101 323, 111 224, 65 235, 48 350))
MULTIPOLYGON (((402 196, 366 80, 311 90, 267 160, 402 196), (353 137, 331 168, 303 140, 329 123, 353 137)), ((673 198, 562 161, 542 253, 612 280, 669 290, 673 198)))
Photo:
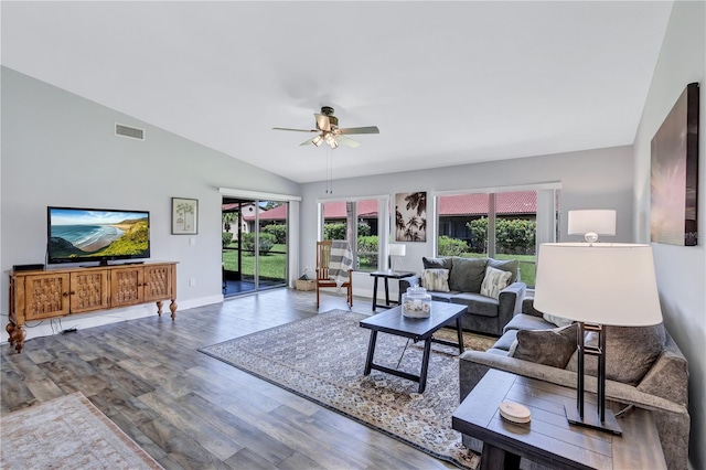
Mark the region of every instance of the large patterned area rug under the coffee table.
MULTIPOLYGON (((364 376, 371 334, 359 325, 364 318, 333 310, 200 351, 439 459, 478 468, 480 458, 451 429, 451 415, 459 406, 458 349, 432 344, 424 394, 417 393, 416 382, 383 372, 364 376)), ((454 330, 439 333, 456 338, 454 330)), ((467 349, 485 350, 493 342, 470 333, 464 338, 467 349)), ((421 344, 378 333, 375 363, 418 375, 421 344)))

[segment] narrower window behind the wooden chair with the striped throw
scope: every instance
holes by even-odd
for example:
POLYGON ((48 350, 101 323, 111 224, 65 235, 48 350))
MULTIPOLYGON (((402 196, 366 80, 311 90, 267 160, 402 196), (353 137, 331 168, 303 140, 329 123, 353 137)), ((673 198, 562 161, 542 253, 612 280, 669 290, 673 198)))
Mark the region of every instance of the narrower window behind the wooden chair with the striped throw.
POLYGON ((355 269, 374 271, 379 263, 378 199, 331 201, 321 203, 323 211, 322 239, 345 239, 351 244, 355 269))

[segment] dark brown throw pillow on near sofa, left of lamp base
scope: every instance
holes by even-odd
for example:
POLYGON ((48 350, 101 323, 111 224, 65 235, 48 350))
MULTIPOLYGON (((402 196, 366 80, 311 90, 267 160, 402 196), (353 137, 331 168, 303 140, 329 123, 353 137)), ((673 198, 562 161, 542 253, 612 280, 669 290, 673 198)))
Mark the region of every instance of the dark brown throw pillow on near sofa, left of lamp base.
POLYGON ((576 351, 578 324, 554 330, 518 330, 509 356, 565 368, 576 351))

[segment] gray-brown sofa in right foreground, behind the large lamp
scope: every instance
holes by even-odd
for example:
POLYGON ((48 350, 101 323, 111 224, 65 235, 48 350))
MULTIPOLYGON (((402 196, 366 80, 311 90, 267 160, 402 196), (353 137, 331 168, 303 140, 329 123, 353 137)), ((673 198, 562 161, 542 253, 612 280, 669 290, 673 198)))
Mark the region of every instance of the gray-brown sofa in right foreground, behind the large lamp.
MULTIPOLYGON (((571 332, 569 329, 576 325, 558 328, 556 323, 561 323, 561 319, 543 316, 533 308, 532 300, 525 299, 524 313, 515 316, 505 325, 503 335, 492 349, 467 351, 461 355, 461 400, 490 368, 576 388, 577 353, 570 352, 569 348, 571 338, 576 342, 576 330, 571 332), (547 338, 549 334, 550 339, 547 338), (560 351, 561 341, 566 344, 565 352, 560 351), (536 351, 533 351, 533 342, 536 351), (548 344, 552 344, 552 349, 548 344), (550 363, 553 365, 546 365, 550 363)), ((686 470, 689 437, 686 359, 663 324, 646 328, 608 327, 606 338, 607 398, 652 410, 667 467, 686 470)), ((587 374, 596 375, 595 360, 586 359, 587 374), (589 362, 591 360, 593 362, 589 362)), ((586 377, 586 389, 596 392, 595 377, 586 377)), ((479 452, 482 449, 482 442, 469 436, 463 436, 463 444, 479 452)), ((524 462, 523 467, 536 467, 528 463, 524 462)))

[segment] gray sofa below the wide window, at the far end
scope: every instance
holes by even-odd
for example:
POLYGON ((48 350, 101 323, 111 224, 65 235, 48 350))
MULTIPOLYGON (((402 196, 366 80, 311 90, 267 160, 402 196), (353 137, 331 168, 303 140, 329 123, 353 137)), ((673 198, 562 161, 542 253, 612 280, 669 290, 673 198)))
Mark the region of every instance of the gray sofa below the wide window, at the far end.
MULTIPOLYGON (((520 281, 518 264, 515 259, 500 260, 493 258, 422 258, 425 270, 448 270, 448 291, 432 290, 424 286, 431 295, 432 300, 442 302, 461 303, 468 307, 468 313, 461 319, 464 330, 500 337, 503 327, 512 320, 515 313, 522 310, 522 301, 527 286, 520 281), (494 268, 510 273, 507 287, 500 290, 498 298, 481 295, 481 285, 485 279, 488 268, 494 268)), ((404 292, 410 282, 403 279, 399 282, 400 292, 404 292)))

